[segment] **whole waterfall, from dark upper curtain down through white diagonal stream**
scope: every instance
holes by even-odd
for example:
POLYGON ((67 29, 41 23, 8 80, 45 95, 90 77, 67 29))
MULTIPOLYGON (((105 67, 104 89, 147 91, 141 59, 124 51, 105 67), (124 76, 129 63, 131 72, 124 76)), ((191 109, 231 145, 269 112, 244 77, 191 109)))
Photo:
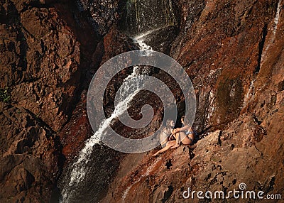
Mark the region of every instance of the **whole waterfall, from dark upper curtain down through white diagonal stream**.
MULTIPOLYGON (((153 49, 149 45, 146 45, 143 40, 147 38, 147 35, 151 35, 151 32, 175 24, 171 0, 128 0, 126 9, 122 30, 133 38, 134 43, 138 43, 141 50, 146 50, 146 55, 151 54, 151 50, 153 49)), ((120 89, 120 91, 127 92, 128 97, 119 99, 114 112, 108 119, 101 122, 99 129, 85 142, 84 148, 77 156, 77 160, 68 167, 67 175, 64 177, 61 202, 77 202, 75 201, 77 199, 76 196, 78 194, 79 196, 83 195, 81 194, 82 192, 77 192, 77 190, 81 188, 80 190, 82 191, 84 182, 88 182, 88 172, 92 170, 91 163, 93 161, 94 149, 99 147, 102 136, 107 135, 109 124, 112 124, 114 119, 124 114, 129 108, 131 100, 142 87, 143 75, 146 72, 145 67, 134 66, 132 74, 124 79, 124 83, 126 84, 124 84, 124 89, 120 89), (137 80, 136 84, 131 82, 128 84, 127 82, 131 81, 133 77, 140 79, 137 80)))

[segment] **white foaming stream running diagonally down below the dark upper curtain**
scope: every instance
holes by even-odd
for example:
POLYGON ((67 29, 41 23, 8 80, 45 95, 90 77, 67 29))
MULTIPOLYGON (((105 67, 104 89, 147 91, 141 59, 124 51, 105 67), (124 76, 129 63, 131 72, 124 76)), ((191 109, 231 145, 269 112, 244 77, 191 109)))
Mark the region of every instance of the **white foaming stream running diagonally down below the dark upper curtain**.
MULTIPOLYGON (((151 54, 152 48, 146 43, 143 43, 143 40, 141 40, 141 37, 138 36, 138 38, 133 38, 134 41, 138 42, 138 44, 141 45, 141 49, 146 49, 148 52, 146 54, 151 54)), ((108 119, 105 119, 102 121, 102 123, 99 126, 99 129, 93 134, 91 138, 89 138, 84 145, 84 148, 80 151, 79 155, 77 156, 77 160, 75 160, 72 165, 69 167, 72 169, 70 172, 69 183, 66 184, 62 190, 62 201, 61 202, 69 202, 69 198, 72 198, 72 192, 76 190, 77 187, 79 187, 80 182, 84 181, 84 177, 89 170, 87 163, 89 163, 89 160, 91 160, 91 154, 92 151, 95 148, 96 144, 100 144, 102 136, 104 134, 107 134, 106 129, 108 128, 109 124, 112 124, 111 122, 116 119, 121 114, 124 114, 124 112, 129 108, 129 103, 133 99, 133 97, 140 91, 141 85, 143 84, 143 75, 145 75, 147 72, 147 69, 141 71, 141 67, 134 66, 133 72, 131 75, 126 77, 124 79, 124 88, 119 89, 119 92, 124 92, 124 95, 128 95, 126 98, 120 98, 118 99, 119 102, 115 106, 114 112, 111 114, 111 116, 108 119), (133 84, 131 79, 133 77, 137 77, 138 80, 136 84, 133 84)), ((119 94, 123 95, 123 94, 119 94)))

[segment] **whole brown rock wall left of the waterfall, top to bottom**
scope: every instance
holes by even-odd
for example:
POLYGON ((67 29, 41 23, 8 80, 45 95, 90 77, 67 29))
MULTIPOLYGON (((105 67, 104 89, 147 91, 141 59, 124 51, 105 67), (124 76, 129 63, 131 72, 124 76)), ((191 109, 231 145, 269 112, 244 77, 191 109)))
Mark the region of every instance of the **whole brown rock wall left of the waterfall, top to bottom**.
POLYGON ((67 1, 1 1, 0 27, 0 202, 49 202, 99 38, 67 1))

